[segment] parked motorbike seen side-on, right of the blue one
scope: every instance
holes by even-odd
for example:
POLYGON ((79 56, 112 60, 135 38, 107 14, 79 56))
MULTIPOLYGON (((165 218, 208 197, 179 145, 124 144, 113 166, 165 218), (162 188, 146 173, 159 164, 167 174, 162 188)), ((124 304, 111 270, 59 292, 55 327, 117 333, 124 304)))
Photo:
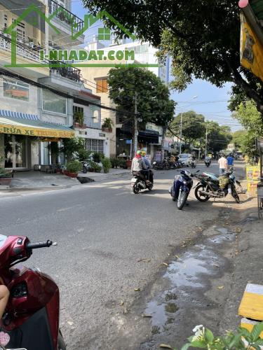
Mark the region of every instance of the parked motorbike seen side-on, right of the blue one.
POLYGON ((224 198, 231 194, 236 203, 240 203, 238 193, 243 193, 243 188, 241 183, 236 180, 233 170, 219 177, 208 172, 203 172, 196 177, 198 184, 194 195, 200 202, 207 202, 210 198, 224 198))

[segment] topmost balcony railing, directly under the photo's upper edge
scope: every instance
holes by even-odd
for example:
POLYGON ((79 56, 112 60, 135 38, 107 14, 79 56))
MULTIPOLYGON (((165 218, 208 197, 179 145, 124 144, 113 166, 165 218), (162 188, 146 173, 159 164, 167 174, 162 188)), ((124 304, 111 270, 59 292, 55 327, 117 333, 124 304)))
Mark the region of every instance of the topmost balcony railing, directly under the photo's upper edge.
POLYGON ((58 18, 58 20, 61 20, 71 27, 73 26, 73 31, 78 32, 83 29, 84 21, 54 0, 48 0, 48 9, 50 15, 55 13, 55 18, 58 18))

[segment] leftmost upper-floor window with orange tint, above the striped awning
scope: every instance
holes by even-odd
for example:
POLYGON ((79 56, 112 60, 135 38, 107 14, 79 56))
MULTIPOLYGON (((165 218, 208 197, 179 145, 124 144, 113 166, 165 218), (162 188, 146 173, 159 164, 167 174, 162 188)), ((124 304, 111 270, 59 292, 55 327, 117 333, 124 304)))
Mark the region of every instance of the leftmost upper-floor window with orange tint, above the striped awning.
POLYGON ((4 97, 29 101, 29 84, 19 80, 6 80, 3 83, 4 97))

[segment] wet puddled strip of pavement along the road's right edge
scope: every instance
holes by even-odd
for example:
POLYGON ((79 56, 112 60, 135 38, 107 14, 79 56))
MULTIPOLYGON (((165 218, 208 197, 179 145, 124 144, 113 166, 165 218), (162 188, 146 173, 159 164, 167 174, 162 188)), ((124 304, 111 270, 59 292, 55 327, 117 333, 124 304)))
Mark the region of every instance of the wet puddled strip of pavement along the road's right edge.
MULTIPOLYGON (((224 227, 213 229, 217 234, 201 235, 197 244, 190 240, 187 251, 170 261, 161 281, 166 289, 157 293, 144 311, 151 320, 151 336, 140 349, 159 349, 158 344, 169 338, 171 330, 177 328, 182 332, 189 328, 189 314, 215 306, 215 301, 205 293, 210 288, 210 280, 219 278, 229 269, 229 261, 222 250, 236 240, 236 232, 224 227)), ((218 288, 220 290, 220 286, 218 288)), ((194 328, 195 324, 192 325, 194 328)))

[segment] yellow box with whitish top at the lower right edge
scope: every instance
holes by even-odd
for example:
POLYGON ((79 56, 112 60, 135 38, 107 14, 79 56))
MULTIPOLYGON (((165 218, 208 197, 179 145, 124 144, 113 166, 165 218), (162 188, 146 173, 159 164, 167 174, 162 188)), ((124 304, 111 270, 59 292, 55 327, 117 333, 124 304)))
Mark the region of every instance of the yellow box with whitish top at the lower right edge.
POLYGON ((263 320, 263 286, 247 284, 238 309, 238 315, 256 321, 263 320))

